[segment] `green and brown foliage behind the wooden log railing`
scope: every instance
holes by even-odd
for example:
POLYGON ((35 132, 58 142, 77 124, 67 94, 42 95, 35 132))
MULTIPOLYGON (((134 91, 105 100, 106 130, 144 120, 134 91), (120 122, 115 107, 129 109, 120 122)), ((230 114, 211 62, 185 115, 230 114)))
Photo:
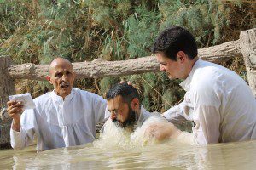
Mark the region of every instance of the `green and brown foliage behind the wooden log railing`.
MULTIPOLYGON (((1 0, 0 55, 19 64, 47 64, 55 56, 73 62, 133 59, 150 55, 154 38, 171 25, 185 26, 200 48, 207 47, 255 27, 253 12, 253 3, 241 0, 1 0)), ((233 63, 231 69, 246 77, 241 61, 233 63)), ((148 111, 166 111, 183 98, 180 81, 166 74, 125 78, 137 86, 148 111)), ((119 77, 84 79, 75 86, 103 95, 116 82, 119 77)), ((48 82, 19 86, 33 97, 52 89, 48 82)))

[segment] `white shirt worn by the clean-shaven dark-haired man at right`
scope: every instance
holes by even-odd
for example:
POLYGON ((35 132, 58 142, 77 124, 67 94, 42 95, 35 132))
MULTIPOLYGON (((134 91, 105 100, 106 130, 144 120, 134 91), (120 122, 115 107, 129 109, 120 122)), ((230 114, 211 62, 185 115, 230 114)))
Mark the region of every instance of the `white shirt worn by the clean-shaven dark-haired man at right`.
POLYGON ((186 90, 183 103, 163 116, 173 123, 194 121, 190 143, 256 139, 256 99, 235 72, 199 59, 180 85, 186 90))

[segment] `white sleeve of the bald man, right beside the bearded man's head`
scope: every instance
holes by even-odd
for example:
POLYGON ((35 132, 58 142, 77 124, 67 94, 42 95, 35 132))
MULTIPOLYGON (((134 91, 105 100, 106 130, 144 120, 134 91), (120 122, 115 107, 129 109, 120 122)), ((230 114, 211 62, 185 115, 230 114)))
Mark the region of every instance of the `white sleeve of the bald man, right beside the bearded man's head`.
POLYGON ((101 96, 95 94, 94 102, 93 102, 93 111, 96 114, 96 123, 104 122, 110 116, 110 113, 107 108, 107 101, 103 99, 101 96))

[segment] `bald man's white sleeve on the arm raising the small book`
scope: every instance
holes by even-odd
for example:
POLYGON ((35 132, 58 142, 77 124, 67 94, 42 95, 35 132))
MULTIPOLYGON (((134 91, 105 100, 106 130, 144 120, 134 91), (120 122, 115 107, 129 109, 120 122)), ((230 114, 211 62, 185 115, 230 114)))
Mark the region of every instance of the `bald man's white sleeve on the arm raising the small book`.
POLYGON ((10 128, 10 143, 12 148, 15 150, 21 150, 32 144, 34 139, 34 110, 26 110, 22 113, 20 117, 20 132, 13 130, 12 126, 10 128))

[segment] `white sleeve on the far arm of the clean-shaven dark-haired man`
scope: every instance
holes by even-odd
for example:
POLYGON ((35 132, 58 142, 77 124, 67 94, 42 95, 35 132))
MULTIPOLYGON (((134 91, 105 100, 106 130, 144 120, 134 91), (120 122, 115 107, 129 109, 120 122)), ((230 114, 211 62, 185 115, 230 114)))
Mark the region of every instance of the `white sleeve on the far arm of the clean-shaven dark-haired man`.
POLYGON ((185 114, 187 113, 188 107, 185 105, 183 101, 179 105, 173 106, 171 109, 167 110, 162 114, 162 116, 166 117, 169 122, 174 124, 180 124, 182 122, 186 122, 185 114))

